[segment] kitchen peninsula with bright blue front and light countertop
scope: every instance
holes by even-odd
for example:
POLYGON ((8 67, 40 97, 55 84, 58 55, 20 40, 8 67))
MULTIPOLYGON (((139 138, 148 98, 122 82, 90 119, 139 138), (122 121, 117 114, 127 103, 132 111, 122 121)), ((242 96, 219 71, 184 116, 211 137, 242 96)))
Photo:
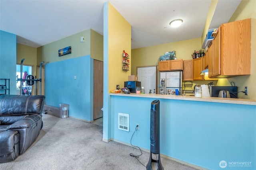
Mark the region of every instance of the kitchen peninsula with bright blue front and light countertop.
POLYGON ((140 124, 132 143, 148 151, 150 106, 160 100, 161 156, 199 169, 220 169, 222 160, 251 162, 240 170, 256 168, 256 101, 158 94, 110 94, 110 98, 113 141, 130 145, 140 124), (118 129, 118 113, 129 114, 130 131, 118 129))

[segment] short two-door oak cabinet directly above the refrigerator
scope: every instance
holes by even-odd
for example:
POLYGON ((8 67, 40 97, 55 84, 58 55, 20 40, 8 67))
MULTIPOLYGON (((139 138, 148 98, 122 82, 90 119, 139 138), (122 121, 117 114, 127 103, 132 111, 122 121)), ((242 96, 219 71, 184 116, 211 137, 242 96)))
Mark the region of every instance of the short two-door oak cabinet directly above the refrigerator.
POLYGON ((182 59, 159 61, 158 68, 159 71, 183 70, 183 61, 182 59))

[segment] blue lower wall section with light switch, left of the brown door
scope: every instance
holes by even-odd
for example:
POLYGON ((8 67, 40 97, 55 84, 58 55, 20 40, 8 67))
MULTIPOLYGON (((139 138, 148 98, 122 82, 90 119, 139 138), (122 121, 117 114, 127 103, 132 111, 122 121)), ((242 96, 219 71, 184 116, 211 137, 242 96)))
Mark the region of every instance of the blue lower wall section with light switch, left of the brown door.
POLYGON ((69 104, 69 116, 93 121, 93 61, 86 55, 46 64, 46 104, 69 104))

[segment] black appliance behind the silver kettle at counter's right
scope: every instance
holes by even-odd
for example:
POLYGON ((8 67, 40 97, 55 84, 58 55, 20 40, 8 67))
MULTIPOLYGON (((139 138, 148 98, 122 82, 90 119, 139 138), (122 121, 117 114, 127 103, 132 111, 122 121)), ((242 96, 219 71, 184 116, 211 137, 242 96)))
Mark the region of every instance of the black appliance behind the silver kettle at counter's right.
POLYGON ((237 86, 209 86, 209 88, 211 97, 219 97, 219 94, 220 97, 228 97, 227 93, 229 93, 230 98, 237 98, 237 86))

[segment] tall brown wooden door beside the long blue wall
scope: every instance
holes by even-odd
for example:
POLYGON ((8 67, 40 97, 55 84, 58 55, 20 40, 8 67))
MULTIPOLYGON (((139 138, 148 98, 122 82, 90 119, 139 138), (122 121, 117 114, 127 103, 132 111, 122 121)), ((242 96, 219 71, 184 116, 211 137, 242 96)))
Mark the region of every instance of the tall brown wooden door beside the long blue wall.
POLYGON ((103 117, 103 62, 94 60, 93 119, 103 117))

